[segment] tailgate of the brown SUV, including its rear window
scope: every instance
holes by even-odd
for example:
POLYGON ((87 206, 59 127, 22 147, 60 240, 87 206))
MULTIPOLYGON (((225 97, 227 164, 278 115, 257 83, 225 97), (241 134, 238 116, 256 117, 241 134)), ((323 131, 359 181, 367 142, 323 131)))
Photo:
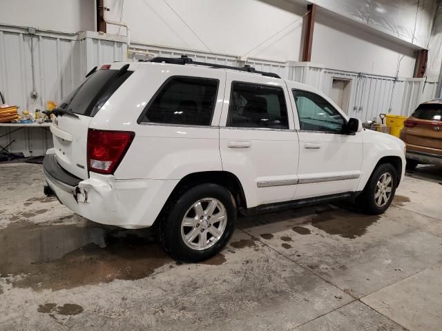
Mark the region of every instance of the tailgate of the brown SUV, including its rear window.
POLYGON ((405 121, 407 150, 442 154, 442 103, 423 103, 405 121))

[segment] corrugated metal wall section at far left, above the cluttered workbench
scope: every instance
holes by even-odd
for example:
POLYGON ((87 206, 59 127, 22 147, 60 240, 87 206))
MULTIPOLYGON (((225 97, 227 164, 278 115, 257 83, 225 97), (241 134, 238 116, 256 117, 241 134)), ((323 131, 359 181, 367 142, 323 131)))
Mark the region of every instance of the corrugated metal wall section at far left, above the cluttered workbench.
POLYGON ((0 30, 0 89, 6 102, 21 110, 42 109, 47 100, 59 100, 81 81, 77 35, 36 33, 25 29, 0 30), (32 41, 32 47, 31 47, 32 41), (32 66, 37 99, 31 99, 32 66))

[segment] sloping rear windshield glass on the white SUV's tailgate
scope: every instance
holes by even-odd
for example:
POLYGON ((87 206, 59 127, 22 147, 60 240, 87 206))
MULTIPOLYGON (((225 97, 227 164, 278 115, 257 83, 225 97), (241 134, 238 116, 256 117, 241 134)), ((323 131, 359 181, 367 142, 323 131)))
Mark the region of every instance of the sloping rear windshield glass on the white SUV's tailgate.
POLYGON ((131 71, 119 74, 119 70, 97 70, 61 101, 60 108, 94 117, 131 74, 131 71))

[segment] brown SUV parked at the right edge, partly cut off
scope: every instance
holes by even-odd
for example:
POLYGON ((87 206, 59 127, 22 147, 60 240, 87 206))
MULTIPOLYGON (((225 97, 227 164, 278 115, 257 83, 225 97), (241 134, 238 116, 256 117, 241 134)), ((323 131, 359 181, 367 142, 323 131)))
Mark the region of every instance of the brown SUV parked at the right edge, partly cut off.
POLYGON ((404 122, 401 139, 407 152, 407 169, 419 163, 442 164, 442 99, 421 103, 404 122))

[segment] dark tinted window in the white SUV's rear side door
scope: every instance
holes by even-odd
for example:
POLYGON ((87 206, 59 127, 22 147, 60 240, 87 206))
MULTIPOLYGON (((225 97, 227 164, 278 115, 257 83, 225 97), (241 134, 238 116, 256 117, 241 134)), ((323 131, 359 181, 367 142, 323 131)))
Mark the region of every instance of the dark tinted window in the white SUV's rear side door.
POLYGON ((233 82, 227 126, 288 129, 284 91, 273 86, 233 82))

